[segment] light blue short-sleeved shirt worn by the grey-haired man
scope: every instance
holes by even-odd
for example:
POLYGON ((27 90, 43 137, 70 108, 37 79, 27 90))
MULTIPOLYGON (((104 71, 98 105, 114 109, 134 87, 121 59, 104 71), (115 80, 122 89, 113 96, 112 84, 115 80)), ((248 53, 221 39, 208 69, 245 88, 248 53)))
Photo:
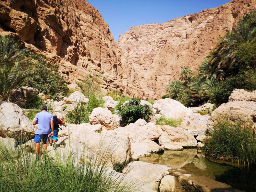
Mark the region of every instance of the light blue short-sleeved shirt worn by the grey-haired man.
POLYGON ((52 114, 48 111, 41 111, 40 113, 36 114, 34 121, 38 121, 37 123, 37 131, 36 134, 49 134, 51 129, 50 121, 53 120, 52 114))

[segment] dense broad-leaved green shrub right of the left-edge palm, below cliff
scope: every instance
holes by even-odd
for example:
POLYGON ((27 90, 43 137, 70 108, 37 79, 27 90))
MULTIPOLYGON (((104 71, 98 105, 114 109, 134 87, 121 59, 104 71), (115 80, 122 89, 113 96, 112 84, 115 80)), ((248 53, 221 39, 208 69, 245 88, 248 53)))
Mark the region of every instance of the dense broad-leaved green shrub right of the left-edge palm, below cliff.
POLYGON ((36 73, 27 77, 22 86, 36 88, 40 93, 49 95, 50 99, 60 100, 61 95, 66 95, 69 89, 58 66, 48 62, 44 55, 30 53, 29 56, 38 61, 36 73))

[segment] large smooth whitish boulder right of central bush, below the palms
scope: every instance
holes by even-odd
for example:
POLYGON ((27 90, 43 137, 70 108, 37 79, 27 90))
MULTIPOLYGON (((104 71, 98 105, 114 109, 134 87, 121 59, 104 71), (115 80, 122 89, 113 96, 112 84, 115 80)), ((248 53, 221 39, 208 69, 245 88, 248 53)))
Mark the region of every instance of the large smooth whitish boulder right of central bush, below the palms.
POLYGON ((153 107, 156 109, 156 113, 164 115, 167 119, 179 119, 193 113, 191 109, 185 107, 180 102, 169 98, 156 101, 153 107))

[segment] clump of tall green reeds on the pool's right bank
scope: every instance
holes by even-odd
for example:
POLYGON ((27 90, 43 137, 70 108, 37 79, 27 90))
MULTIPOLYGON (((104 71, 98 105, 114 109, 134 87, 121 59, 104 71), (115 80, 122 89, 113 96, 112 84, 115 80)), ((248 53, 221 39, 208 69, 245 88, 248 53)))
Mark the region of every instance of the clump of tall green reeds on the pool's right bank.
POLYGON ((250 125, 218 122, 203 147, 207 156, 241 164, 256 164, 256 135, 250 125))

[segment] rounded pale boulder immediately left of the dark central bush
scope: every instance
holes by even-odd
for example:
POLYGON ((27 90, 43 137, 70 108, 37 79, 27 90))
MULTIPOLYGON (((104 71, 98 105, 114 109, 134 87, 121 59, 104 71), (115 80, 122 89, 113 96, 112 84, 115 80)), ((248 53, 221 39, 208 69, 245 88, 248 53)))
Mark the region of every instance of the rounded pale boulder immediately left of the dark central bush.
POLYGON ((101 107, 92 110, 89 116, 89 122, 91 125, 101 124, 103 126, 102 129, 106 130, 113 130, 119 126, 111 111, 101 107))

